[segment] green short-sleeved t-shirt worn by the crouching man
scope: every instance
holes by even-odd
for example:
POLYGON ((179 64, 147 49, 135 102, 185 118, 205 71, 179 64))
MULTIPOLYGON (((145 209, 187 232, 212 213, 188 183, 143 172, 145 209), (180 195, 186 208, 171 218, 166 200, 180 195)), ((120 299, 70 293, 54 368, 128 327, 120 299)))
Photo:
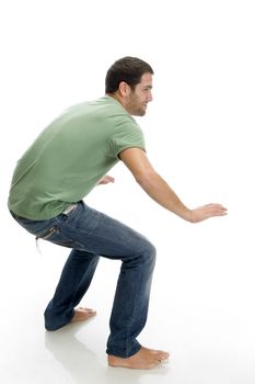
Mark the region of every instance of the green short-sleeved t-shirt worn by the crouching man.
POLYGON ((131 147, 144 150, 143 134, 111 97, 65 111, 18 161, 9 208, 30 219, 47 219, 82 200, 131 147))

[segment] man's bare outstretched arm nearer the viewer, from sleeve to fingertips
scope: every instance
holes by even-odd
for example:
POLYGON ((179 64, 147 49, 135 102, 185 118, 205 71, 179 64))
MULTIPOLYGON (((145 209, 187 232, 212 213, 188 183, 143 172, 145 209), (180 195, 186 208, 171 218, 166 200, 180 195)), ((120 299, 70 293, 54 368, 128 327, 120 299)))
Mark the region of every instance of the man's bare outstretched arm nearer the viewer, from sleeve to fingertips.
POLYGON ((166 181, 155 172, 142 149, 128 148, 123 150, 119 157, 151 199, 183 219, 198 223, 209 217, 227 215, 227 208, 221 204, 208 204, 189 210, 166 181))

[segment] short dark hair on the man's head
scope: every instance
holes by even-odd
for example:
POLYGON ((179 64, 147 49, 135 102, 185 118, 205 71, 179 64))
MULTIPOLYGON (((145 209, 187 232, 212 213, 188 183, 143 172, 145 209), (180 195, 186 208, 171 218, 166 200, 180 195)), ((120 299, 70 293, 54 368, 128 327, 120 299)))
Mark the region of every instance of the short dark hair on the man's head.
POLYGON ((143 74, 153 75, 151 66, 138 57, 126 56, 115 61, 107 70, 105 78, 105 93, 114 93, 121 81, 132 90, 141 80, 143 74))

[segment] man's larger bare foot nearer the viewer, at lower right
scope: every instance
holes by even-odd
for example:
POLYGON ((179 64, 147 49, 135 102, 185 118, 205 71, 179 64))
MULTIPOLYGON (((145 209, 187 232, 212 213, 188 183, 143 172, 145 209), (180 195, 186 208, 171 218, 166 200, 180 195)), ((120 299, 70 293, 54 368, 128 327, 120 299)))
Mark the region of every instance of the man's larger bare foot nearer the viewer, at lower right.
POLYGON ((131 368, 135 370, 151 370, 162 361, 167 360, 169 357, 169 352, 141 347, 137 353, 126 359, 109 354, 108 364, 111 366, 131 368))

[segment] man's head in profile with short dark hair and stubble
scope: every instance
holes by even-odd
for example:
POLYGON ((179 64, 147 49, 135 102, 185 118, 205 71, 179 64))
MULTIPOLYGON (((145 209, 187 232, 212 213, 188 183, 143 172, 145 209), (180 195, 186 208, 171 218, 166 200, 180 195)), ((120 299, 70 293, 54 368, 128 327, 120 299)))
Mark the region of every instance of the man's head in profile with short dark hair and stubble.
POLYGON ((123 57, 108 69, 105 93, 118 100, 131 115, 143 116, 152 101, 152 75, 149 64, 137 57, 123 57))

